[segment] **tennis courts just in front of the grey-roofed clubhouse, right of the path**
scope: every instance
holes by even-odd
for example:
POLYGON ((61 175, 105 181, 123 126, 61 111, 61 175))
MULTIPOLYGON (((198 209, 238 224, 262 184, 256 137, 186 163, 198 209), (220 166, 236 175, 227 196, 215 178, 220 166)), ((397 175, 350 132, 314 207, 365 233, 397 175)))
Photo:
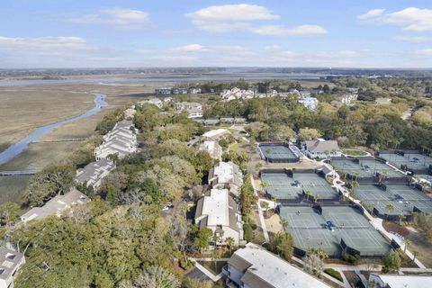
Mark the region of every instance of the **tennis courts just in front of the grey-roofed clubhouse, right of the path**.
POLYGON ((388 178, 400 178, 404 175, 401 172, 394 170, 382 162, 376 161, 372 158, 351 160, 351 159, 338 159, 332 160, 331 164, 344 174, 358 176, 358 178, 374 177, 377 173, 386 175, 388 178))

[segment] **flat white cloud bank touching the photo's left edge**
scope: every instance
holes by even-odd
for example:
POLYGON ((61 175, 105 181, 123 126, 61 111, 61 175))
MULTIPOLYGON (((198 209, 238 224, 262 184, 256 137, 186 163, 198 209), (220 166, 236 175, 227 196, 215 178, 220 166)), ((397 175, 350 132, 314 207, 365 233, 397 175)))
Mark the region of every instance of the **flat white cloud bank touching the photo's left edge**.
POLYGON ((80 37, 12 38, 0 36, 0 50, 47 55, 67 54, 96 49, 80 37))

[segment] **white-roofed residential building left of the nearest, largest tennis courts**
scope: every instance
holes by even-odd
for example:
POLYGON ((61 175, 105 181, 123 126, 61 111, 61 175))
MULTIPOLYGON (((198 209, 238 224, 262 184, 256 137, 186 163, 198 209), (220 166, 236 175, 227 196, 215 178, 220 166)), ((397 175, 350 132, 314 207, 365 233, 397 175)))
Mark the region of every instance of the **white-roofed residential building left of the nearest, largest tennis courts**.
POLYGON ((223 245, 226 238, 233 238, 236 245, 243 240, 243 222, 238 203, 227 189, 211 189, 196 204, 195 224, 200 229, 209 228, 219 239, 215 245, 223 245))

